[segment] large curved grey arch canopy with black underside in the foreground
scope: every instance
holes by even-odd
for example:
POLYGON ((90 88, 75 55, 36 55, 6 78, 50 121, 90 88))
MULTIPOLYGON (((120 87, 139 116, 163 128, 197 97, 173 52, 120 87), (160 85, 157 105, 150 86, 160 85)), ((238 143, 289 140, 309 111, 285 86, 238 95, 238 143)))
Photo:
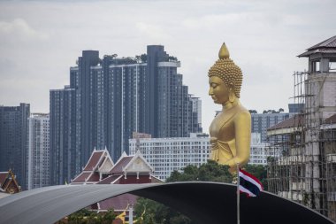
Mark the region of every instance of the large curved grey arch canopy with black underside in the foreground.
MULTIPOLYGON (((236 186, 217 182, 64 185, 33 189, 0 199, 0 223, 55 223, 81 208, 124 193, 171 206, 195 223, 237 223, 236 186)), ((259 197, 241 195, 241 224, 245 223, 333 222, 302 205, 262 192, 259 197)))

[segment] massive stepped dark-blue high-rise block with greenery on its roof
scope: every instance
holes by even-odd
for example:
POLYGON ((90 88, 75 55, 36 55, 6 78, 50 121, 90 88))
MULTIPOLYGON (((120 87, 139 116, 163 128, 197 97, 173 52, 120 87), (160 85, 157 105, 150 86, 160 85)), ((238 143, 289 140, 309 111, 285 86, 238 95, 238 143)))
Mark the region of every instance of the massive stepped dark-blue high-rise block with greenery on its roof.
MULTIPOLYGON (((53 153, 63 155, 68 151, 68 155, 73 155, 62 159, 62 166, 66 161, 75 166, 66 174, 67 178, 79 174, 80 167, 86 164, 95 148, 106 147, 114 161, 122 151, 128 153, 128 139, 133 132, 153 137, 183 137, 202 131, 201 101, 188 94, 182 75, 177 73, 179 66, 177 58, 169 56, 164 46, 148 46, 147 54, 136 58, 105 55, 101 59, 97 50, 84 50, 78 66, 70 69, 67 91, 71 91, 72 96, 68 110, 57 108, 65 106, 65 100, 57 103, 57 97, 53 97, 50 90, 51 133, 57 132, 58 127, 62 135, 71 133, 68 142, 63 139, 63 143, 57 136, 50 136, 51 151, 55 148, 53 153), (61 118, 53 110, 67 115, 61 118), (56 120, 52 120, 52 114, 56 120), (57 122, 66 125, 54 126, 57 122), (60 148, 65 143, 67 146, 60 148)), ((58 172, 57 167, 61 166, 57 155, 52 173, 58 172)), ((64 178, 54 181, 61 183, 64 178)))

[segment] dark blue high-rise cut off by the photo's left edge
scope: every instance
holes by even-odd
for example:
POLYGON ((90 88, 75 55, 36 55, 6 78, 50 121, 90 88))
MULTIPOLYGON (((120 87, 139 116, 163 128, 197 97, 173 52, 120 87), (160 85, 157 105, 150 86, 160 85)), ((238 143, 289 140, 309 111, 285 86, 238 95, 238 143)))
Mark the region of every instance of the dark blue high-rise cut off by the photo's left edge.
POLYGON ((24 189, 27 183, 27 119, 30 105, 0 105, 0 170, 11 169, 24 189))

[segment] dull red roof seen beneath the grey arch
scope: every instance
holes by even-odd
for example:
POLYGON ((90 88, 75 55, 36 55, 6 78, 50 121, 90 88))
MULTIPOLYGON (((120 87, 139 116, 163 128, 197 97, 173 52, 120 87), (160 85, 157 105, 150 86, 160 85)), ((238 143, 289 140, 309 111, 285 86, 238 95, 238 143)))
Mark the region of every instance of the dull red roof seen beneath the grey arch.
POLYGON ((115 211, 124 211, 128 204, 135 204, 138 197, 131 194, 119 195, 103 200, 99 203, 101 210, 113 208, 115 211))

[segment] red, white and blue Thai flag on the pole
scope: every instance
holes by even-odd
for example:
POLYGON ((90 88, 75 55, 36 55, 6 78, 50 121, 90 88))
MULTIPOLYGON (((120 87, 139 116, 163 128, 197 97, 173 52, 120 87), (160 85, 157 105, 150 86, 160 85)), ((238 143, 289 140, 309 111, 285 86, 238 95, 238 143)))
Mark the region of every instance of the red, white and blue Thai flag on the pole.
POLYGON ((263 191, 263 184, 252 174, 239 169, 239 190, 248 194, 248 197, 256 197, 263 191))

